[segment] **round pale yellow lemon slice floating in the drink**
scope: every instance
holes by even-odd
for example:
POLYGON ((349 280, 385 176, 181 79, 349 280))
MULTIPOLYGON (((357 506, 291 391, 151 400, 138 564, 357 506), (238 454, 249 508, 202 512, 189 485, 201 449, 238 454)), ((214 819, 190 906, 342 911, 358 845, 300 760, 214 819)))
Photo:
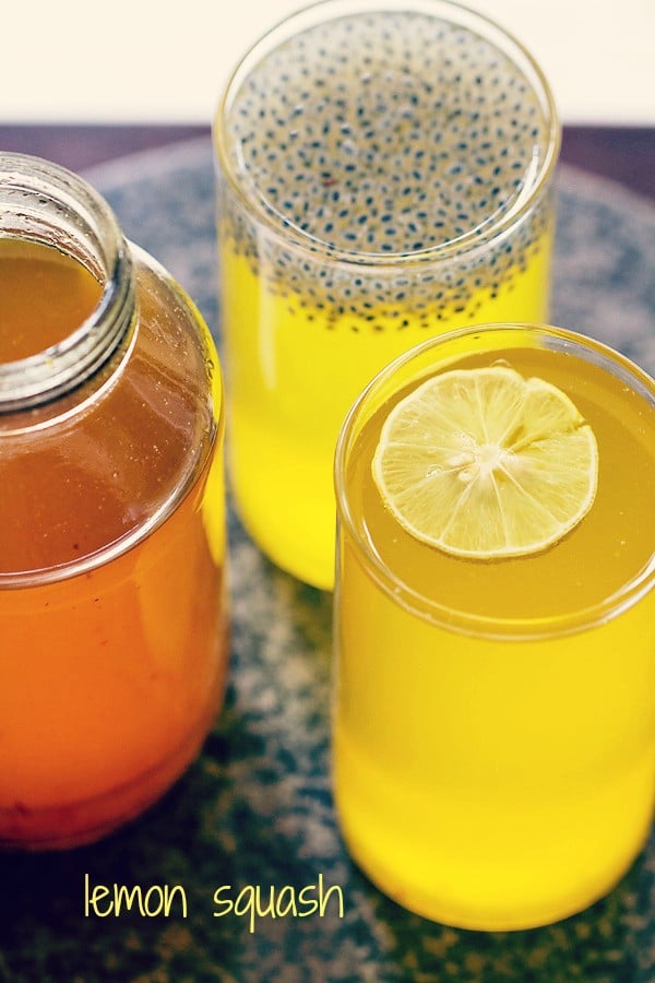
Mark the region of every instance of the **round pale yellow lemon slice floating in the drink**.
POLYGON ((372 471, 417 540, 462 557, 522 556, 590 510, 598 449, 561 390, 493 365, 434 376, 401 400, 372 471))

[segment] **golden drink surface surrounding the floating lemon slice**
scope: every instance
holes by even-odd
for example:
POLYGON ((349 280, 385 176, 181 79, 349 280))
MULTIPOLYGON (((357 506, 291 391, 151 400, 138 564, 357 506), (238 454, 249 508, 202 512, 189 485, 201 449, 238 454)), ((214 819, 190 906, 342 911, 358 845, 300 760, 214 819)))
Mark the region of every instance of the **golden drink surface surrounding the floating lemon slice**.
MULTIPOLYGON (((598 488, 588 514, 553 546, 529 556, 466 560, 420 543, 384 508, 370 461, 388 408, 366 425, 348 474, 353 509, 381 562, 419 597, 498 618, 548 618, 604 603, 638 577, 655 553, 655 412, 590 363, 543 350, 495 353, 524 377, 564 391, 598 443, 598 488)), ((460 367, 485 363, 469 358, 460 367)), ((398 396, 400 398, 400 396, 398 396)))

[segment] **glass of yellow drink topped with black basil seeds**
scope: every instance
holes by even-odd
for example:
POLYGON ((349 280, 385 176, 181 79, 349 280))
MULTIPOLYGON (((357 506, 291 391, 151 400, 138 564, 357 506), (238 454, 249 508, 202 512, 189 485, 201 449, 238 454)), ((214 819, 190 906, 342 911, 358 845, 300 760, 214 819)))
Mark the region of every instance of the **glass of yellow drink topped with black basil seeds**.
POLYGON ((215 123, 241 517, 331 588, 357 393, 445 329, 547 318, 559 127, 529 55, 442 0, 329 0, 269 33, 215 123))

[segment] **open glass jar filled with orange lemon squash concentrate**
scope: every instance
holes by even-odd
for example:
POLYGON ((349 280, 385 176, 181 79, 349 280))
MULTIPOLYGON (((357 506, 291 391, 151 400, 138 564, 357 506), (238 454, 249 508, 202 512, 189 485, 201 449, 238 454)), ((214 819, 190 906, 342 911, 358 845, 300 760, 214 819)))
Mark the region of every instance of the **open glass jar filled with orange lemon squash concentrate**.
POLYGON ((178 284, 21 154, 0 295, 0 844, 59 849, 155 802, 219 707, 223 387, 178 284))

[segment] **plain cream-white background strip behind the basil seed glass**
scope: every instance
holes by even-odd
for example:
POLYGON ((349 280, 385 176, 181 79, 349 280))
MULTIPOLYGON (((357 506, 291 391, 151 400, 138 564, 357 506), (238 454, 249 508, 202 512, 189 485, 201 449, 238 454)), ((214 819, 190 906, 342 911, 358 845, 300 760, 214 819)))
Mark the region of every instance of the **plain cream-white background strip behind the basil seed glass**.
MULTIPOLYGON (((235 60, 301 0, 2 0, 0 122, 207 123, 235 60)), ((655 0, 468 0, 565 123, 655 125, 655 0)))

